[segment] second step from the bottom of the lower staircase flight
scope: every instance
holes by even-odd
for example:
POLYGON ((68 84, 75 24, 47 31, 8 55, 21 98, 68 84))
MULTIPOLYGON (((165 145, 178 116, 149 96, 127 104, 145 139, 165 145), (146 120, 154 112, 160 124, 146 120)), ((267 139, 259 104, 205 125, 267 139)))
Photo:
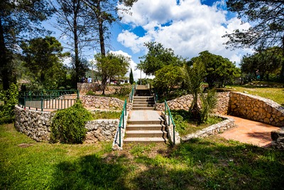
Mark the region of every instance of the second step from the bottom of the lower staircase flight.
POLYGON ((162 130, 129 130, 126 137, 167 137, 167 132, 162 130))

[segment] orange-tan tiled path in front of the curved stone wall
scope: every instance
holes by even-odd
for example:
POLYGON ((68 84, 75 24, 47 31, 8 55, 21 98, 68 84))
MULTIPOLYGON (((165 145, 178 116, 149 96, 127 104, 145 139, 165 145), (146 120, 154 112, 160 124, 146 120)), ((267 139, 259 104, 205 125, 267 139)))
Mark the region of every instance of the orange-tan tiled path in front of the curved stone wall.
POLYGON ((225 139, 234 139, 239 142, 254 144, 259 147, 269 147, 271 145, 271 131, 278 130, 279 127, 245 120, 240 117, 234 117, 236 127, 218 134, 225 139))

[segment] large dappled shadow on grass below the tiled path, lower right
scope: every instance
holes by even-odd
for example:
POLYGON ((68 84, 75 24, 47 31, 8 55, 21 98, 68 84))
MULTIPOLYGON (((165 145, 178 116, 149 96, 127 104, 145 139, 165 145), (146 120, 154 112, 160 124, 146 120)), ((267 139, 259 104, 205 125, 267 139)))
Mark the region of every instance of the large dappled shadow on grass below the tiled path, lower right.
POLYGON ((231 141, 193 139, 166 157, 138 157, 146 165, 139 189, 284 189, 283 152, 231 141))

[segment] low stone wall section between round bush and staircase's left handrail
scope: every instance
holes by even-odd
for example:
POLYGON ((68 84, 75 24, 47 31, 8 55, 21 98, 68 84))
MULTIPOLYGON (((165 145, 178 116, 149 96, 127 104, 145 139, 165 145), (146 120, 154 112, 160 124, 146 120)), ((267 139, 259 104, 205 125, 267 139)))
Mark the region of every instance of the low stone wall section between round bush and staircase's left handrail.
POLYGON ((114 140, 119 120, 94 120, 86 123, 86 143, 111 142, 114 140))

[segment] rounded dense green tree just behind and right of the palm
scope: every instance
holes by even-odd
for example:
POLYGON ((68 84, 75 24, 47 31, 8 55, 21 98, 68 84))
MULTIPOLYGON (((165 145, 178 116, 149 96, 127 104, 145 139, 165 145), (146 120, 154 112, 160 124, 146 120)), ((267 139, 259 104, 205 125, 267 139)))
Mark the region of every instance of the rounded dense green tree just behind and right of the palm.
POLYGON ((213 88, 216 82, 219 82, 220 88, 224 88, 227 83, 240 76, 239 68, 236 68, 236 65, 228 58, 214 55, 209 51, 202 51, 200 56, 192 58, 189 64, 192 65, 195 62, 204 64, 204 78, 209 88, 213 88))

